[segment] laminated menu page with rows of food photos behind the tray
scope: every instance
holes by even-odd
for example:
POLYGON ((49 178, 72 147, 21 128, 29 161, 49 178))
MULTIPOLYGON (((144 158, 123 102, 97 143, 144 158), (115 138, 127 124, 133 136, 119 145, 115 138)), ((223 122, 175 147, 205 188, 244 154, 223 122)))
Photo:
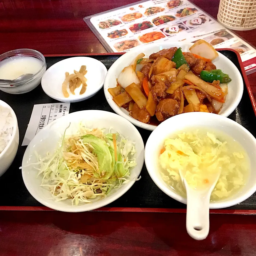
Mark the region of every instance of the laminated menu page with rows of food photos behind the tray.
POLYGON ((215 48, 237 50, 246 72, 256 71, 256 49, 187 0, 140 1, 85 17, 84 21, 108 52, 204 39, 215 48))

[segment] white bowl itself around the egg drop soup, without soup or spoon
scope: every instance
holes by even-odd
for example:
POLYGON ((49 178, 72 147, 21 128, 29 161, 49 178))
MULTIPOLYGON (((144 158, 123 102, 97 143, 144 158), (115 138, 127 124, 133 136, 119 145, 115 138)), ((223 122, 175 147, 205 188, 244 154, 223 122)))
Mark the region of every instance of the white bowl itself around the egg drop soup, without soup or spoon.
POLYGON ((256 166, 256 139, 243 126, 233 120, 211 113, 180 114, 167 119, 151 133, 145 147, 145 163, 155 184, 173 199, 186 204, 186 195, 182 195, 177 187, 173 186, 173 188, 163 180, 161 172, 164 169, 161 166, 159 156, 167 138, 177 138, 176 135, 183 131, 190 133, 196 129, 199 130, 199 134, 200 130, 202 133, 209 130, 209 133, 213 133, 217 137, 221 134, 219 139, 223 141, 224 138, 227 141, 227 145, 230 146, 229 149, 232 151, 230 154, 239 151, 243 153, 245 158, 248 157, 246 167, 242 171, 243 184, 228 196, 210 201, 210 208, 230 207, 249 198, 256 191, 256 171, 254 170, 254 166, 256 166))

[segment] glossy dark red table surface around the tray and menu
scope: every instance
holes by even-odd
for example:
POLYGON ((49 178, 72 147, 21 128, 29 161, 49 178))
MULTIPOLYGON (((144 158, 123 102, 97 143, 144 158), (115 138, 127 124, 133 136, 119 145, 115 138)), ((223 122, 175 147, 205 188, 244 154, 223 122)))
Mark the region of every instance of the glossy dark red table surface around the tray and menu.
MULTIPOLYGON (((0 54, 18 48, 106 53, 83 18, 134 2, 1 0, 0 54)), ((217 0, 191 2, 217 18, 217 0)), ((255 32, 236 33, 255 46, 255 32)), ((256 73, 248 79, 255 96, 256 73)), ((2 196, 8 197, 8 189, 15 187, 8 185, 2 196)), ((185 222, 185 213, 0 211, 0 256, 256 255, 255 215, 212 213, 203 241, 189 237, 185 222)))

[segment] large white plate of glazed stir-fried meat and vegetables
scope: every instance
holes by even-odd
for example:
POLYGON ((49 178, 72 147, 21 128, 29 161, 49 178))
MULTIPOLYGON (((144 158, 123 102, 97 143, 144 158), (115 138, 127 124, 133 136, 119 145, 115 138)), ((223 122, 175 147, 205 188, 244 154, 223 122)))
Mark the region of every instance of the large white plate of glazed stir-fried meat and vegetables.
POLYGON ((237 67, 204 40, 137 47, 107 72, 111 108, 147 130, 187 112, 229 116, 243 94, 237 67))

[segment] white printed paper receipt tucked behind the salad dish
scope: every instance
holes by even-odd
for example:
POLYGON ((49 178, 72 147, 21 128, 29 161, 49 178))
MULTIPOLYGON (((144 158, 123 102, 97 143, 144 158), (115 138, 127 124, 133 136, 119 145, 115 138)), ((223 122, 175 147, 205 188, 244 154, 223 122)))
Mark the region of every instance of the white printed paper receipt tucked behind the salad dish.
POLYGON ((29 142, 43 127, 55 119, 67 115, 69 113, 69 107, 70 103, 62 102, 34 105, 21 146, 29 145, 29 142))

